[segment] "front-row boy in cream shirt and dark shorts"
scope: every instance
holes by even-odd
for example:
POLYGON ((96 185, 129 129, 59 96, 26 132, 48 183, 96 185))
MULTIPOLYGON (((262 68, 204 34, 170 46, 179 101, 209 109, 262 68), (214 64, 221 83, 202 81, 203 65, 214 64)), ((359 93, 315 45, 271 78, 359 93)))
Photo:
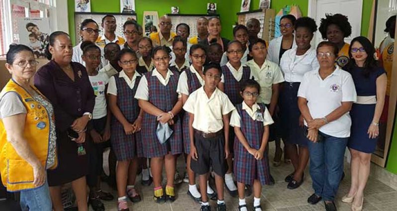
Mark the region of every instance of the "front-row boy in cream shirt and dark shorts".
POLYGON ((229 156, 229 113, 234 109, 228 97, 216 86, 220 82, 218 64, 204 66, 204 86, 189 95, 184 109, 189 112, 191 168, 199 174, 201 211, 210 211, 207 197, 207 173, 215 173, 217 210, 226 211, 223 177, 229 156))

